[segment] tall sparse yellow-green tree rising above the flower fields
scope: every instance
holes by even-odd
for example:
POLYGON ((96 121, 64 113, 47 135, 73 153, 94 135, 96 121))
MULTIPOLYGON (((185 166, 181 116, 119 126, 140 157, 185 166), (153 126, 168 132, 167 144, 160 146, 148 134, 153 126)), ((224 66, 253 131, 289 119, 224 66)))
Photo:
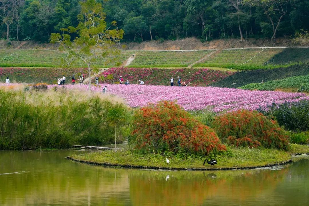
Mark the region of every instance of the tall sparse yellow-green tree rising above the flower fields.
POLYGON ((80 2, 81 13, 78 15, 78 26, 62 28, 63 34, 51 34, 51 42, 60 44, 59 50, 66 52, 64 59, 70 66, 72 62, 83 62, 88 68, 88 89, 91 89, 91 72, 97 72, 92 63, 98 57, 104 58, 105 62, 110 61, 111 54, 117 53, 116 44, 123 38, 122 29, 111 29, 116 27, 116 21, 107 27, 105 22, 106 14, 102 5, 96 0, 80 2), (69 34, 65 33, 68 32, 69 34), (70 34, 77 34, 73 41, 70 34), (102 52, 101 52, 102 51, 102 52))

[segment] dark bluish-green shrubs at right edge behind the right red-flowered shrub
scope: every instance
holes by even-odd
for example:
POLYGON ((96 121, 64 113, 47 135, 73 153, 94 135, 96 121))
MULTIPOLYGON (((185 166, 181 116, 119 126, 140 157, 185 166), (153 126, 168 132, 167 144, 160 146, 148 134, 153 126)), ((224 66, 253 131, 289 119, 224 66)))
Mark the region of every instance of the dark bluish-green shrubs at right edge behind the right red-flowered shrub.
POLYGON ((288 130, 309 130, 309 100, 273 103, 265 108, 259 108, 258 111, 265 116, 273 117, 281 127, 288 130))

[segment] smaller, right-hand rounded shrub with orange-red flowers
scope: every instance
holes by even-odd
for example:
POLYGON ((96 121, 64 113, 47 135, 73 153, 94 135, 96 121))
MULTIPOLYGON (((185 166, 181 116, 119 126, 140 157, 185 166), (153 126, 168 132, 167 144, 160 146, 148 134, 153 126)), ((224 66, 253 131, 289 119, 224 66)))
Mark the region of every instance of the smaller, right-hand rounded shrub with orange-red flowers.
POLYGON ((219 116, 212 123, 218 136, 235 146, 289 149, 286 132, 274 120, 257 111, 238 110, 219 116))

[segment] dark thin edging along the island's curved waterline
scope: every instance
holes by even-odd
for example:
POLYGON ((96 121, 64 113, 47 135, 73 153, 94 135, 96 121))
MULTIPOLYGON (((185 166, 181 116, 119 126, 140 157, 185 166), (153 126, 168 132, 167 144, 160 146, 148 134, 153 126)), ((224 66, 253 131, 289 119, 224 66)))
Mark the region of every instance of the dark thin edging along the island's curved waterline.
POLYGON ((230 167, 230 168, 181 168, 181 167, 155 167, 155 166, 140 166, 140 165, 126 165, 126 164, 113 164, 109 162, 92 162, 92 161, 85 161, 85 160, 78 160, 72 157, 67 157, 67 159, 82 162, 91 165, 101 165, 101 166, 111 166, 111 167, 127 167, 127 168, 138 168, 138 169, 159 169, 159 170, 245 170, 245 169, 254 169, 257 167, 272 167, 278 165, 285 165, 289 162, 292 162, 292 159, 275 163, 275 164, 268 164, 264 166, 250 166, 250 167, 230 167))

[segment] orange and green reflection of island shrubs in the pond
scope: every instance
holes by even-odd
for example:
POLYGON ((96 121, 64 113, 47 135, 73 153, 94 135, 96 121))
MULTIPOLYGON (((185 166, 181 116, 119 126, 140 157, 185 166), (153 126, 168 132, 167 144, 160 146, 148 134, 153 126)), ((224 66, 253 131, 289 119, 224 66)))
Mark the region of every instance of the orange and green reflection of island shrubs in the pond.
POLYGON ((129 174, 133 205, 202 205, 263 202, 288 169, 237 171, 137 171, 129 174), (170 178, 166 181, 166 175, 170 178))

